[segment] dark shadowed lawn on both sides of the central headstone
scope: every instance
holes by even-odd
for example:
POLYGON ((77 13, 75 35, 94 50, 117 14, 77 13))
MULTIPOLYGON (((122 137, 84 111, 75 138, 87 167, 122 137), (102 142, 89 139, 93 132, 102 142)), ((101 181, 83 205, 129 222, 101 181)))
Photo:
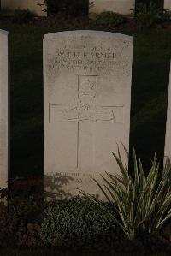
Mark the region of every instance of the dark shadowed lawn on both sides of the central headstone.
MULTIPOLYGON (((13 177, 43 176, 42 39, 45 33, 89 29, 89 25, 84 21, 78 21, 74 26, 69 22, 63 25, 59 22, 55 27, 19 26, 8 22, 1 24, 2 29, 10 32, 11 176, 13 177)), ((94 27, 94 29, 99 28, 94 27)), ((100 30, 133 35, 130 152, 133 151, 134 146, 148 170, 154 152, 161 164, 163 158, 171 30, 169 27, 167 29, 155 27, 148 30, 100 27, 100 30)), ((33 253, 32 251, 32 255, 33 253)), ((41 254, 38 250, 38 253, 55 255, 50 251, 46 253, 42 251, 41 254)), ((20 250, 6 250, 1 253, 2 256, 30 254, 31 251, 20 250)))

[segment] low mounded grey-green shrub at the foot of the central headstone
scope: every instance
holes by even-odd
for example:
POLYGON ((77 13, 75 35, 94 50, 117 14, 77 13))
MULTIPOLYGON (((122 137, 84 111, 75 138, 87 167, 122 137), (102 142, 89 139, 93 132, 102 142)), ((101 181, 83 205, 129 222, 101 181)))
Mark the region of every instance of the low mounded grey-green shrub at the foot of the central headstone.
POLYGON ((75 197, 46 209, 41 237, 46 244, 56 237, 71 241, 93 241, 108 235, 112 223, 111 217, 103 216, 97 205, 75 197))

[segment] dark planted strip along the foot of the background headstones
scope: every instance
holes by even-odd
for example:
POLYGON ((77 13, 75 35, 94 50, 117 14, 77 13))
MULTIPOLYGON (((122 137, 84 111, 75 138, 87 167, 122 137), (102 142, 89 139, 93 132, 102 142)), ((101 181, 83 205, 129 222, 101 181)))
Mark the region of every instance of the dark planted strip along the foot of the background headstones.
MULTIPOLYGON (((3 27, 14 26, 15 24, 20 24, 21 27, 46 27, 46 28, 56 28, 56 31, 63 30, 76 30, 76 29, 94 29, 94 30, 109 30, 118 33, 132 32, 136 33, 139 29, 142 29, 142 25, 133 19, 133 16, 124 17, 123 22, 119 25, 111 24, 106 25, 98 25, 96 24, 95 19, 89 18, 87 15, 82 15, 79 17, 65 17, 63 15, 55 15, 48 17, 35 17, 31 21, 23 22, 15 22, 13 16, 3 16, 0 19, 0 24, 3 27)), ((154 22, 153 28, 162 28, 162 29, 170 29, 171 28, 171 20, 170 18, 163 19, 162 21, 154 22)))

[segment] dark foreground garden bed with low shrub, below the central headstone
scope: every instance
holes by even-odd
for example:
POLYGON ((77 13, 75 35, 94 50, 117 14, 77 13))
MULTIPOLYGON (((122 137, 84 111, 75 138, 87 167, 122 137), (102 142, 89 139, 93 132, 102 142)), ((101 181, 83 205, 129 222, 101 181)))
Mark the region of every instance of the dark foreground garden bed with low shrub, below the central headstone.
POLYGON ((56 248, 71 255, 171 253, 170 223, 160 234, 139 234, 128 241, 115 221, 87 199, 44 202, 41 185, 41 179, 32 178, 10 182, 10 189, 1 190, 5 203, 0 206, 0 247, 56 248))

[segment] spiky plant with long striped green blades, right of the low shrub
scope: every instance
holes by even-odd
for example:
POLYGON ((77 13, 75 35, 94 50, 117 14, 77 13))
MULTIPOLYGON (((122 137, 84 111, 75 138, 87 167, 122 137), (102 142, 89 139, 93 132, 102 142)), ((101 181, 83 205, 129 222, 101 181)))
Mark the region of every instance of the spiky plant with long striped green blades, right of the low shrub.
MULTIPOLYGON (((156 155, 148 176, 145 176, 142 163, 133 152, 134 175, 131 176, 123 164, 120 151, 112 152, 121 170, 121 176, 106 173, 102 176, 103 185, 94 180, 113 211, 106 209, 100 201, 83 191, 105 214, 113 217, 129 240, 139 232, 156 233, 171 217, 171 169, 168 164, 160 171, 156 155)), ((168 163, 168 162, 167 162, 168 163)))

